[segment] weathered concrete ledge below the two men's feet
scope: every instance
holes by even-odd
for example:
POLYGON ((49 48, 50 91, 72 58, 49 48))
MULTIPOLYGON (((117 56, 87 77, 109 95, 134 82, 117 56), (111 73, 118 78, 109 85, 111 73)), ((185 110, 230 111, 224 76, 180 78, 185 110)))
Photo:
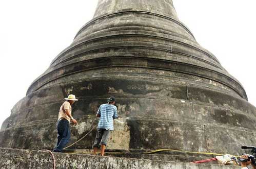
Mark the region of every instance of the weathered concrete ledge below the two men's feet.
MULTIPOLYGON (((54 153, 56 168, 88 168, 88 169, 235 169, 240 167, 214 164, 191 164, 161 160, 144 160, 117 157, 101 157, 80 154, 54 153)), ((38 153, 31 150, 0 148, 0 168, 53 168, 53 160, 49 153, 38 153)))

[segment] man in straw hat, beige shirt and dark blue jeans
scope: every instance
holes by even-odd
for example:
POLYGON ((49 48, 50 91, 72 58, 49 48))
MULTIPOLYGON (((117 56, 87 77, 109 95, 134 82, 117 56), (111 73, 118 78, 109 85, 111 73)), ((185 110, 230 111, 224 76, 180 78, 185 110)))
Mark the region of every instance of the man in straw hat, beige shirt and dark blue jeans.
POLYGON ((68 98, 65 98, 65 102, 62 104, 60 111, 58 112, 58 122, 57 122, 57 131, 58 131, 58 141, 56 147, 53 149, 53 152, 62 152, 63 148, 66 146, 70 139, 70 126, 69 123, 72 122, 74 125, 77 125, 76 119, 71 115, 72 107, 74 104, 75 95, 69 94, 68 98))

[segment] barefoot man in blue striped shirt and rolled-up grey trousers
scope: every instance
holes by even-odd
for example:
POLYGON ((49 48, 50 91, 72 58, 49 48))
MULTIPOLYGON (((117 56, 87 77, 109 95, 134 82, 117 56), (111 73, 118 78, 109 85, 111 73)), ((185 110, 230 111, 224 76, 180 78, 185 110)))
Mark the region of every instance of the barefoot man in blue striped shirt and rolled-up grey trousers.
POLYGON ((107 141, 112 130, 114 130, 113 119, 117 118, 117 108, 114 106, 115 98, 111 96, 106 104, 102 104, 96 116, 100 117, 96 138, 93 144, 93 154, 101 148, 101 156, 104 156, 107 141))

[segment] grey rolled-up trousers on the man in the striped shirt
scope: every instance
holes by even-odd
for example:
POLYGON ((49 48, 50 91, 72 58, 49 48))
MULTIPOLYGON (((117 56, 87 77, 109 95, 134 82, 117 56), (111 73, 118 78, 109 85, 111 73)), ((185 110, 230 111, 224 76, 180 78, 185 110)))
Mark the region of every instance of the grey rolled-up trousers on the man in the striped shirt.
POLYGON ((107 129, 97 129, 96 138, 93 147, 101 148, 100 145, 107 146, 108 138, 110 136, 111 130, 107 129))

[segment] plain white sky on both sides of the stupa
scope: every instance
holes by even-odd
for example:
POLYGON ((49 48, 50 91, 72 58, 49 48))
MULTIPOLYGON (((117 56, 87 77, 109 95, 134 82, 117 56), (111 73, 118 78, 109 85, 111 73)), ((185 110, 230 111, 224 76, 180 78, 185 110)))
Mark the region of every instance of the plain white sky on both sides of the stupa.
MULTIPOLYGON (((196 40, 242 83, 249 102, 256 105, 256 1, 173 2, 196 40)), ((97 0, 0 1, 0 126, 32 81, 92 19, 96 4, 97 0)))

